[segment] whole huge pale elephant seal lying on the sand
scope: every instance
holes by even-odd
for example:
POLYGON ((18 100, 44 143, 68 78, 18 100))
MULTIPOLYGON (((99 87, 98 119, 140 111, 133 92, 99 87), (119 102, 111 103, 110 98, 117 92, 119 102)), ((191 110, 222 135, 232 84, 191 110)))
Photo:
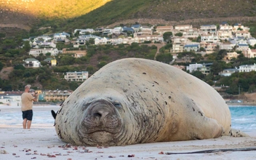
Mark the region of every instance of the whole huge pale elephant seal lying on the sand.
POLYGON ((73 145, 132 145, 231 135, 218 92, 185 71, 154 60, 105 65, 53 113, 58 137, 73 145))

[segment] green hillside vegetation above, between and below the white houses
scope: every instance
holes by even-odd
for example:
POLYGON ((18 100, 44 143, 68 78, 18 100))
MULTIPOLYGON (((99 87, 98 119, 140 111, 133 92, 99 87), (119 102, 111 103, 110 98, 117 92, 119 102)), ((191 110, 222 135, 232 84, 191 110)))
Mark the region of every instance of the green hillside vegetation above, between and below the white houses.
MULTIPOLYGON (((0 87, 2 90, 22 90, 24 84, 33 84, 34 89, 76 89, 79 82, 65 81, 67 71, 89 71, 95 73, 103 65, 124 57, 142 57, 153 60, 157 47, 152 44, 132 44, 117 46, 93 46, 87 44, 87 56, 74 58, 71 55, 57 55, 56 67, 44 64, 42 68, 24 68, 23 60, 28 57, 30 46, 22 39, 30 36, 65 31, 72 33, 76 28, 97 28, 100 26, 119 26, 129 24, 178 25, 207 23, 219 24, 246 22, 256 35, 256 1, 244 0, 2 0, 0 4, 0 87), (7 3, 8 2, 8 3, 7 3), (43 29, 42 29, 43 28, 43 29), (4 68, 4 69, 2 69, 4 68), (8 68, 8 70, 7 70, 8 68), (4 75, 4 76, 3 76, 4 75)), ((71 37, 72 38, 72 37, 71 37)), ((172 61, 167 44, 159 49, 156 57, 164 63, 172 61)), ((70 44, 57 44, 58 49, 69 48, 70 44)), ((84 48, 85 49, 85 48, 84 48)), ((256 59, 239 56, 237 60, 225 64, 221 61, 223 51, 216 50, 208 57, 193 52, 180 55, 194 57, 192 63, 214 63, 212 74, 193 76, 210 85, 230 86, 225 92, 239 94, 256 92, 255 72, 235 73, 231 77, 217 76, 223 68, 234 68, 241 64, 256 63, 256 59), (207 61, 205 61, 207 60, 207 61), (241 87, 241 88, 239 88, 241 87)), ((47 56, 40 55, 37 60, 47 56)), ((188 65, 188 63, 177 63, 188 65)))

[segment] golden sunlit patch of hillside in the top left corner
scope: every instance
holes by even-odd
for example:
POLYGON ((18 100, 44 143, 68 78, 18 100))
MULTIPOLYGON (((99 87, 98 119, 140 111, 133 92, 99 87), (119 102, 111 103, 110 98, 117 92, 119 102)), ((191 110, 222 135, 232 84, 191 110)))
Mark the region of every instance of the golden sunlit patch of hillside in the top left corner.
POLYGON ((0 9, 36 17, 70 18, 87 14, 111 0, 1 0, 0 9))

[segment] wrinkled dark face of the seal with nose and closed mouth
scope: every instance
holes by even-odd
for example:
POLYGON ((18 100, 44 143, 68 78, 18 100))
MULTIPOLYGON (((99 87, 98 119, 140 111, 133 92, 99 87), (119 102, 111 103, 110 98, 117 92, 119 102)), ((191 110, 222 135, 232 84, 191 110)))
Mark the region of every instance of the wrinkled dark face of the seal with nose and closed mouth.
POLYGON ((109 145, 122 132, 123 119, 119 114, 121 103, 94 100, 84 105, 84 116, 79 125, 79 137, 86 143, 109 145))

